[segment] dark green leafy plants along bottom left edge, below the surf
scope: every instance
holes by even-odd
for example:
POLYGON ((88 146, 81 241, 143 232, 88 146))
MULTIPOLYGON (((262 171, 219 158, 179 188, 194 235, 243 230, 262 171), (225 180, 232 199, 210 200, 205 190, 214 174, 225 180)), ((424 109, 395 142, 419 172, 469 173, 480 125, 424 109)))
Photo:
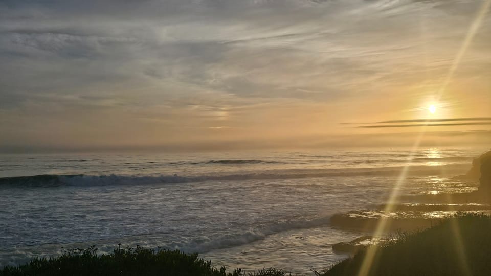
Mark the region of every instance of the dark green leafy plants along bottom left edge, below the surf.
POLYGON ((97 248, 65 250, 59 257, 34 258, 17 267, 6 266, 2 276, 17 275, 166 275, 166 276, 285 276, 275 268, 245 272, 237 268, 231 273, 226 267, 215 268, 211 261, 178 250, 152 250, 119 245, 111 254, 97 254, 97 248))

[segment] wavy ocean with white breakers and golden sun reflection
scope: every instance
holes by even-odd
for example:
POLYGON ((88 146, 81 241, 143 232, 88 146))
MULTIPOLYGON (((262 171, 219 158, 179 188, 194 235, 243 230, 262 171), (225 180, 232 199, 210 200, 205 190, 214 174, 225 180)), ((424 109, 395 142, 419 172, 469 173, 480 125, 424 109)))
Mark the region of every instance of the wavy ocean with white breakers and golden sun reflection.
POLYGON ((121 243, 308 274, 363 234, 330 227, 332 214, 384 203, 405 167, 403 194, 475 190, 454 176, 485 150, 2 154, 0 267, 121 243))

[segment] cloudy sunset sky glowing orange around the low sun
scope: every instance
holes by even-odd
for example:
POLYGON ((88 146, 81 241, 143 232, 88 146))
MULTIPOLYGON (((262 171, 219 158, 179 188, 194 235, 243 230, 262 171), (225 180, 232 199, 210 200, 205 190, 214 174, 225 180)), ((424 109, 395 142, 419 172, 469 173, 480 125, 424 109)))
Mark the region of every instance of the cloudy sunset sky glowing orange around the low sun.
POLYGON ((490 145, 490 2, 0 0, 0 151, 490 145))

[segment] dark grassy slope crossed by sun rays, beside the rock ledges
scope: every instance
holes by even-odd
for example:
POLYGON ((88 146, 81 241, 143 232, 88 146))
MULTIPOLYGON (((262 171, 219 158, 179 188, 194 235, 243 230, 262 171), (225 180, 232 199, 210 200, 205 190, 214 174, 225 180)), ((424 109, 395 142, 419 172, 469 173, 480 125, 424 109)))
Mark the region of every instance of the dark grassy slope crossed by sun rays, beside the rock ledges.
MULTIPOLYGON (((457 214, 412 234, 398 233, 378 245, 368 275, 491 275, 491 217, 457 214)), ((324 276, 358 275, 366 256, 359 251, 324 276)))

